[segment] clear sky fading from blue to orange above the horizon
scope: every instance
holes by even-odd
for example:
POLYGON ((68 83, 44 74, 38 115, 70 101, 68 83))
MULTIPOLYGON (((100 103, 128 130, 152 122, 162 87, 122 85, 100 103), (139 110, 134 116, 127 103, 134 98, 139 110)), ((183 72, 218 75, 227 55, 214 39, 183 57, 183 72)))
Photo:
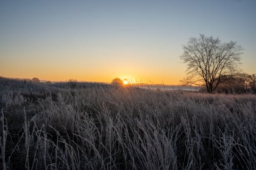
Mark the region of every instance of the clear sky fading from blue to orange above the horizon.
POLYGON ((256 73, 256 1, 0 1, 0 76, 181 84, 182 45, 237 41, 256 73))

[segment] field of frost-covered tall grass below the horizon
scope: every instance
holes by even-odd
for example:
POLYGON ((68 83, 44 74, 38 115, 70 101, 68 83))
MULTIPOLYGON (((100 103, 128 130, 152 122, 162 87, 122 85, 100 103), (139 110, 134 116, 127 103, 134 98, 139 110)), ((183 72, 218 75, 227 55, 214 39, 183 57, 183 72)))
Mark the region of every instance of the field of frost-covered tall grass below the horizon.
POLYGON ((256 95, 0 79, 2 169, 256 169, 256 95))

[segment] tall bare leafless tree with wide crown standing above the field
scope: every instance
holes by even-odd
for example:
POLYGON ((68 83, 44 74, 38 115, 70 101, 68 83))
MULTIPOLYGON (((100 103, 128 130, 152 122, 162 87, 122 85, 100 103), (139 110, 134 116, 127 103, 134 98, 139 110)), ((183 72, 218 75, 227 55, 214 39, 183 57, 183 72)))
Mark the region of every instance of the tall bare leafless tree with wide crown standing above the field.
POLYGON ((219 38, 190 38, 183 45, 181 60, 187 64, 186 82, 206 86, 207 92, 214 92, 224 75, 238 70, 242 46, 237 42, 222 43, 219 38))

